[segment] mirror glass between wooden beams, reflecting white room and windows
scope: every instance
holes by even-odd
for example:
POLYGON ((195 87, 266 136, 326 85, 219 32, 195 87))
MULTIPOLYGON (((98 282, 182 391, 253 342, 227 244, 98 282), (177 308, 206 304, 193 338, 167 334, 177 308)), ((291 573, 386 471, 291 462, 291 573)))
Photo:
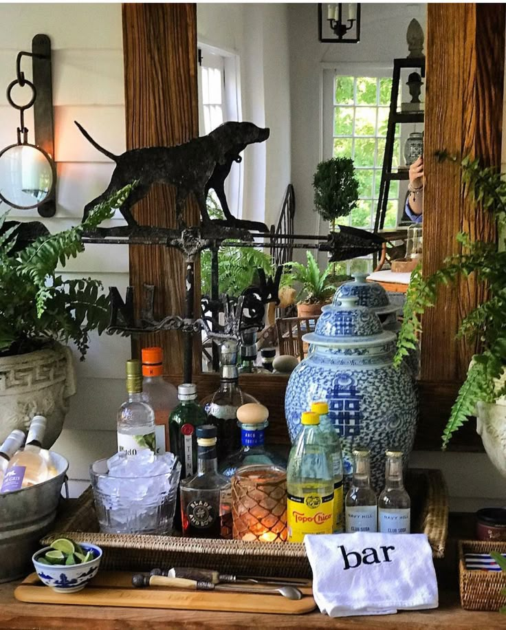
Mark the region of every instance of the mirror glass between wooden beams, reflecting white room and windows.
MULTIPOLYGON (((368 3, 359 43, 322 43, 315 3, 197 5, 201 133, 226 120, 270 128, 266 142, 248 146, 232 165, 225 195, 232 215, 263 221, 283 237, 272 237, 270 248, 223 246, 214 255, 214 296, 236 299, 259 282, 257 268, 274 276, 284 265, 281 304, 265 305, 256 334, 259 371, 272 369, 262 350, 274 352, 274 365, 287 355, 283 369, 293 369, 307 353, 302 336, 352 276, 380 283, 401 310, 421 258, 425 27, 423 4, 368 3), (329 262, 316 236, 326 239, 338 226, 380 232, 384 246, 329 262), (291 234, 315 247, 297 248, 291 234)), ((208 209, 222 217, 212 192, 208 209)), ((212 252, 204 252, 207 297, 212 265, 212 252)), ((250 371, 252 343, 245 347, 250 371)), ((203 370, 218 369, 208 339, 203 349, 203 370)))

